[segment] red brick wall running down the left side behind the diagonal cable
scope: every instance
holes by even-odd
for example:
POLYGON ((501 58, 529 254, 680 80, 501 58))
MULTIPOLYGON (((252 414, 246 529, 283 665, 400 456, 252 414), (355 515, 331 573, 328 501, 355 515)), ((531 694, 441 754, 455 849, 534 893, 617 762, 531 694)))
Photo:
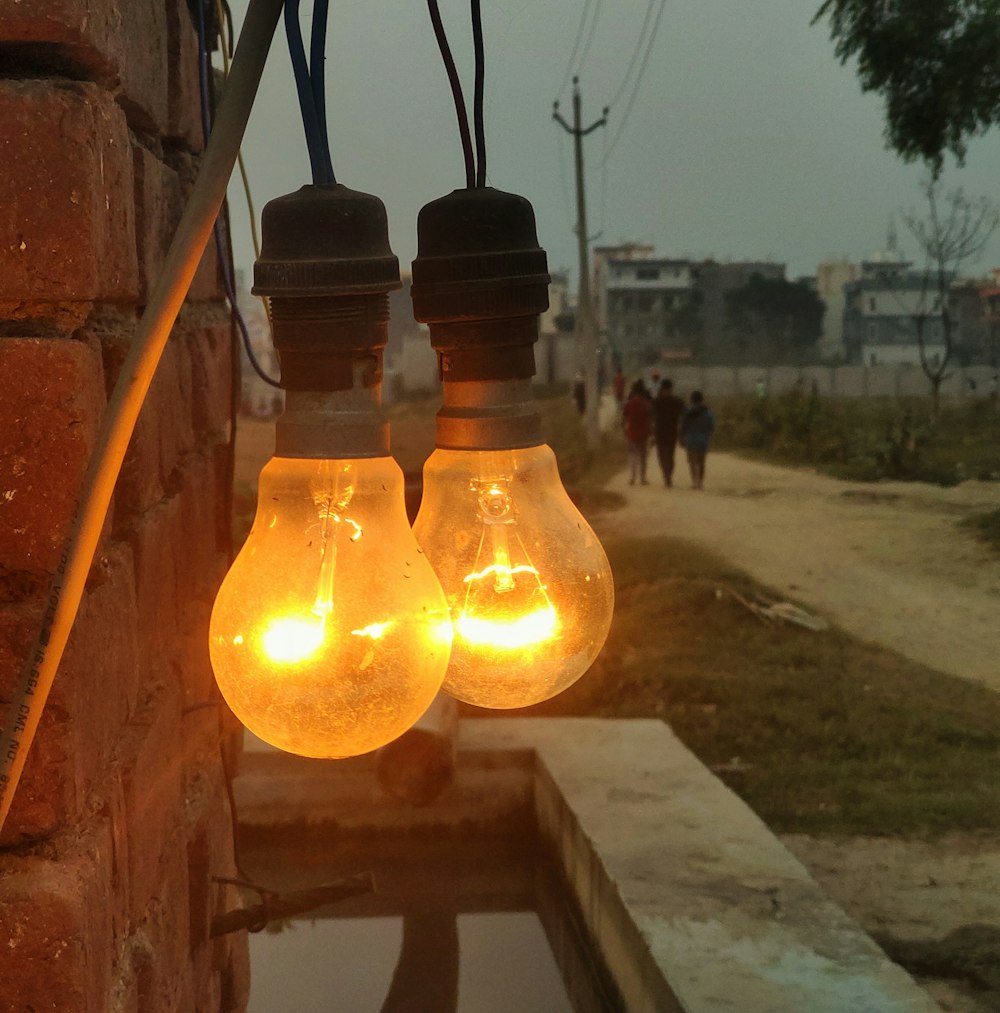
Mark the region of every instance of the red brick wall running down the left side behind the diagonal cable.
MULTIPOLYGON (((185 0, 0 0, 0 709, 202 148, 185 0)), ((0 1011, 239 1010, 207 628, 228 549, 231 328, 174 327, 0 835, 0 1011), (207 706, 200 706, 207 705, 207 706)))

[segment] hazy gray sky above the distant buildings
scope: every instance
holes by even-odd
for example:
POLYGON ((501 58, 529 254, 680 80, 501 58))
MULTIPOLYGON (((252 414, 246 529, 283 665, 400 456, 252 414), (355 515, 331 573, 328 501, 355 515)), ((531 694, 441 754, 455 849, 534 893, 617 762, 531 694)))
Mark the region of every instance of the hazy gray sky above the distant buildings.
MULTIPOLYGON (((640 240, 665 256, 773 258, 789 276, 831 256, 859 260, 886 244, 894 210, 919 206, 923 169, 887 151, 882 108, 841 67, 820 0, 667 0, 640 90, 605 158, 630 89, 606 129, 585 141, 589 231, 640 240)), ((465 0, 440 0, 466 97, 472 43, 465 0)), ((571 139, 552 120, 585 0, 482 0, 489 183, 527 197, 551 269, 575 274, 571 139)), ((657 4, 659 6, 659 3, 657 4)), ((232 0, 237 25, 246 0, 232 0)), ((598 22, 580 67, 584 121, 619 91, 646 0, 591 0, 598 22)), ((302 0, 311 26, 311 0, 302 0)), ((585 49, 585 32, 579 54, 585 49)), ((308 44, 307 44, 308 45, 308 44)), ((578 62, 579 62, 578 54, 578 62)), ((464 185, 451 93, 422 0, 331 0, 327 102, 340 182, 378 194, 404 269, 419 208, 464 185)), ((279 26, 244 155, 259 207, 309 181, 285 34, 279 26)), ((1000 131, 946 173, 973 196, 1000 199, 1000 131)), ((237 265, 253 253, 245 204, 230 188, 237 265)), ((897 216, 900 245, 915 244, 897 216)), ((994 238, 979 265, 1000 265, 994 238)))

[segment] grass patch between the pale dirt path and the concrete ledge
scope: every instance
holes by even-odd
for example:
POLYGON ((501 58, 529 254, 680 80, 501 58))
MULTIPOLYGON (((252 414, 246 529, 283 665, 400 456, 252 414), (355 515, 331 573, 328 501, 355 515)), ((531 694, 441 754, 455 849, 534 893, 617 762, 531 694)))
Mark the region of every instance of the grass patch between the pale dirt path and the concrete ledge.
POLYGON ((764 626, 724 590, 757 586, 686 543, 605 544, 607 646, 523 713, 662 718, 778 832, 1000 829, 1000 695, 837 630, 764 626))

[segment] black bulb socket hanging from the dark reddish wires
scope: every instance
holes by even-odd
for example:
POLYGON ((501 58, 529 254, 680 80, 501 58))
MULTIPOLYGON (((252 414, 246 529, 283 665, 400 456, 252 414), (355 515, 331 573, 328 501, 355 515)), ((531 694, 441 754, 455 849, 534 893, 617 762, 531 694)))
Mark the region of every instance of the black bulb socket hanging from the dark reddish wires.
POLYGON ((420 210, 416 237, 413 315, 430 327, 442 380, 533 377, 549 275, 530 202, 454 190, 420 210))

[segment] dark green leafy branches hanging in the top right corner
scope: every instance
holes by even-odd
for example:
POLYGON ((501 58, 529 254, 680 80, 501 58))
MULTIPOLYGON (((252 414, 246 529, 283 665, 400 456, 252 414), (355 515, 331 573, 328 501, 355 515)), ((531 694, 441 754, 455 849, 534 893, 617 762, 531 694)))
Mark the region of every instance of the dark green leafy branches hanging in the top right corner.
POLYGON ((936 178, 949 151, 1000 123, 1000 0, 825 0, 841 63, 886 100, 886 137, 936 178))

